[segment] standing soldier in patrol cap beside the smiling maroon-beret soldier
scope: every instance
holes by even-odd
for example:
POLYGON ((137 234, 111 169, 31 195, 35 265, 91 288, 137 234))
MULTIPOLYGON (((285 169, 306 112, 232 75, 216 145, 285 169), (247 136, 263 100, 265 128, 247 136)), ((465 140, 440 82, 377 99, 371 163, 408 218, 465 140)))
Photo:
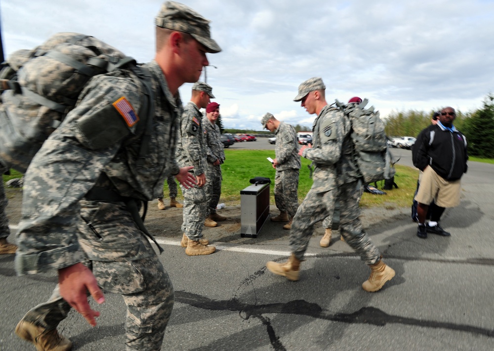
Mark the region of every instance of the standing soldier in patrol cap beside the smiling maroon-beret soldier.
POLYGON ((182 241, 189 256, 213 253, 214 246, 203 239, 204 220, 206 219, 207 203, 204 185, 206 184, 206 137, 202 120, 201 108, 206 108, 209 99, 214 98, 212 88, 203 82, 192 87, 191 101, 185 105, 180 118, 180 135, 177 143, 177 162, 181 167, 192 166, 197 185, 185 189, 184 194, 182 241))

